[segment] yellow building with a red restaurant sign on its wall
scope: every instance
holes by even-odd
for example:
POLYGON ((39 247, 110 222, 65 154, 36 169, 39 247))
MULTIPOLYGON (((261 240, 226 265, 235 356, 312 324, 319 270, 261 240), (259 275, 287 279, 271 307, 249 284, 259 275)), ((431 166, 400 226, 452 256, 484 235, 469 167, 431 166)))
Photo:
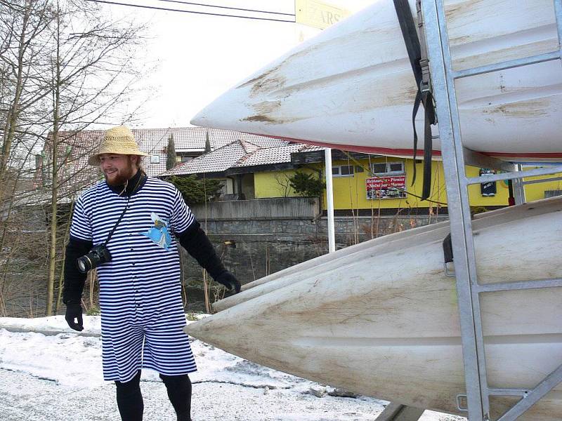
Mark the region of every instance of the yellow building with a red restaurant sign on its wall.
MULTIPOLYGON (((306 153, 308 152, 303 152, 303 154, 306 153)), ((423 163, 421 161, 414 164, 412 159, 360 155, 352 154, 354 159, 341 159, 341 153, 334 153, 335 159, 332 162, 334 210, 419 208, 424 210, 425 213, 429 211, 430 206, 433 208, 432 212, 436 210, 435 208, 446 206, 445 175, 443 164, 440 161, 433 161, 431 196, 429 200, 421 201, 419 197, 421 196, 423 183, 423 163), (414 165, 417 173, 415 181, 414 165), (392 186, 396 186, 398 189, 394 189, 392 186)), ((317 160, 320 160, 320 154, 317 154, 317 157, 317 160)), ((293 161, 295 160, 293 159, 293 161)), ((314 161, 314 159, 308 159, 306 166, 301 166, 301 168, 254 173, 256 199, 296 196, 290 187, 287 189, 287 180, 296 171, 315 173, 324 179, 324 163, 314 161)), ((485 169, 482 168, 466 167, 466 173, 469 177, 476 177, 485 172, 485 169)), ((559 176, 561 174, 553 177, 559 176)), ((548 176, 543 178, 548 178, 548 176)), ((532 179, 537 178, 530 178, 529 180, 532 179)), ((488 209, 507 206, 509 203, 507 182, 500 181, 488 184, 485 188, 482 185, 471 185, 469 187, 471 205, 483 206, 488 209)), ((561 194, 561 190, 561 180, 525 185, 527 201, 561 194)), ((324 196, 323 203, 326 203, 326 196, 324 196)))

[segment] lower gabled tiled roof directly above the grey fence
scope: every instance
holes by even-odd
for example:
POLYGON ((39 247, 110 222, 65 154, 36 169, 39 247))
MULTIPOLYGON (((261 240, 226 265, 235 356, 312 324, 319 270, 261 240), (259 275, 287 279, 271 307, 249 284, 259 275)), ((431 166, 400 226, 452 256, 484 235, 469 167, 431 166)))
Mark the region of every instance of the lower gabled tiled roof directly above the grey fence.
POLYGON ((294 152, 324 149, 318 146, 289 143, 281 140, 277 142, 280 143, 277 145, 262 144, 264 146, 259 147, 253 142, 236 140, 225 147, 178 165, 161 175, 221 173, 229 168, 289 163, 291 162, 291 154, 294 152))

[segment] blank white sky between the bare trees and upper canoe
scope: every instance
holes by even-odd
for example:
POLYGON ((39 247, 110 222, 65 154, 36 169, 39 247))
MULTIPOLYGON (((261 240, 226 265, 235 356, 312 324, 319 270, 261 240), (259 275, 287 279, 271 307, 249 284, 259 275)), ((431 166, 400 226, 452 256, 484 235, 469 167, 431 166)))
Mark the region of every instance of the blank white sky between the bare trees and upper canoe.
MULTIPOLYGON (((284 15, 244 13, 187 6, 170 0, 108 0, 192 11, 293 19, 284 15)), ((331 0, 326 3, 358 11, 376 0, 331 0)), ((294 0, 195 0, 235 8, 294 13, 294 0)), ((105 5, 115 16, 126 13, 150 23, 150 41, 143 58, 156 65, 143 78, 152 99, 143 107, 136 128, 189 126, 192 116, 238 81, 289 51, 320 29, 296 23, 225 18, 105 5)), ((117 122, 118 123, 118 122, 117 122)))

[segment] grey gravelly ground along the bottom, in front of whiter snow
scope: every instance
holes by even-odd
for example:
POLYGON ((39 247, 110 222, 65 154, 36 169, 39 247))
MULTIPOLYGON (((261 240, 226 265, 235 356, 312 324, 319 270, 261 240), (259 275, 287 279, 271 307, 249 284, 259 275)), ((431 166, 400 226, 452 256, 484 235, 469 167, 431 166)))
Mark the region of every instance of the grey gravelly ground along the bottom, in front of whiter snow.
MULTIPOLYGON (((145 421, 175 420, 164 385, 141 382, 145 421)), ((25 373, 0 369, 3 421, 119 421, 115 387, 72 389, 25 373)), ((215 382, 193 385, 193 421, 374 420, 383 409, 372 399, 317 398, 277 389, 215 382), (339 415, 337 415, 339 414, 339 415)))

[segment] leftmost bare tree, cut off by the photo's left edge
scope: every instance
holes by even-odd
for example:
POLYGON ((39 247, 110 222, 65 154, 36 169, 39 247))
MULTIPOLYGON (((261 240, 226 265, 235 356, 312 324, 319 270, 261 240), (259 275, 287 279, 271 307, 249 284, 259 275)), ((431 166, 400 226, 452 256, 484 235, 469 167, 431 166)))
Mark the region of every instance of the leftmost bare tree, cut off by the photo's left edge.
MULTIPOLYGON (((52 17, 46 0, 0 0, 0 312, 6 314, 9 280, 26 274, 15 268, 22 256, 34 258, 20 234, 30 217, 32 196, 21 195, 30 181, 25 163, 34 154, 42 130, 35 121, 44 114, 42 102, 48 91, 41 86, 46 63, 42 54, 52 17), (20 272, 20 273, 18 273, 20 272)), ((29 186, 27 186, 29 189, 29 186)), ((37 243, 34 244, 37 246, 37 243)), ((24 265, 24 269, 25 269, 24 265)), ((29 268, 27 268, 29 269, 29 268)))

